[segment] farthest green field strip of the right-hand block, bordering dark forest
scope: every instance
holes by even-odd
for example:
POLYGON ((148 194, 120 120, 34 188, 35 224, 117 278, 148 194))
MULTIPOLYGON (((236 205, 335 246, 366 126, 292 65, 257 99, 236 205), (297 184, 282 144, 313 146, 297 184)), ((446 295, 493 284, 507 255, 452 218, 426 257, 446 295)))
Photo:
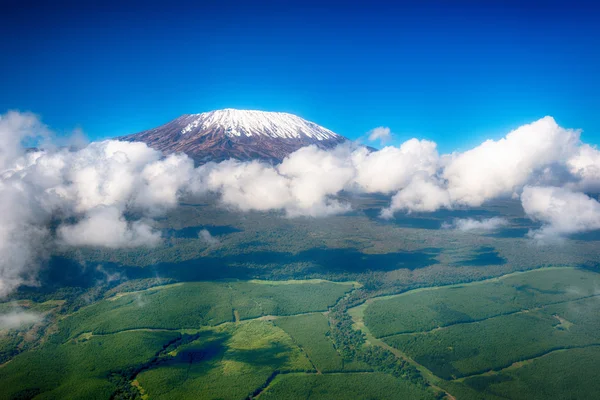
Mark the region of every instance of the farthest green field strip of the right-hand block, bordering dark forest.
POLYGON ((364 318, 376 337, 385 337, 583 298, 595 294, 598 285, 600 276, 589 271, 546 269, 380 298, 369 305, 364 318))

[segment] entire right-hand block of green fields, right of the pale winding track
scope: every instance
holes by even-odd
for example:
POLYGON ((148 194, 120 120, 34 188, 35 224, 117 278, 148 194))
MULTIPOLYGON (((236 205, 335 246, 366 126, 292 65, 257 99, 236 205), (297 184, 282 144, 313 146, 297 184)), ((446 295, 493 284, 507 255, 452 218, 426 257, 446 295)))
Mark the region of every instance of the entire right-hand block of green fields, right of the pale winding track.
POLYGON ((457 398, 596 398, 598 287, 589 271, 540 269, 384 296, 350 314, 457 398))

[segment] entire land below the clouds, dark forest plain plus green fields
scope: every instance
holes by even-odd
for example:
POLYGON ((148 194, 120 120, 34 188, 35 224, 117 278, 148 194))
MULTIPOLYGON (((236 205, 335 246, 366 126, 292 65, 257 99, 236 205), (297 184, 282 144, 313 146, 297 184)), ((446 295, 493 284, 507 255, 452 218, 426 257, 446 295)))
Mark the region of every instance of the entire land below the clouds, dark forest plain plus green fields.
POLYGON ((518 203, 382 220, 190 201, 151 249, 62 249, 0 303, 0 399, 600 397, 593 234, 540 248, 518 203), (496 232, 443 229, 504 216, 496 232), (214 241, 199 236, 208 230, 214 241))

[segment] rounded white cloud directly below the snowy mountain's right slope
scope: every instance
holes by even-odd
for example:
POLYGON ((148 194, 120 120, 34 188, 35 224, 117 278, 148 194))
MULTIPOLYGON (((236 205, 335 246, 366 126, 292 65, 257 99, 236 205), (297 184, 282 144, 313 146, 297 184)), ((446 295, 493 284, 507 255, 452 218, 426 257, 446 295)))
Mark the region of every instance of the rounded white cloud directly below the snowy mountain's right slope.
POLYGON ((220 193, 224 204, 242 211, 284 210, 288 216, 316 217, 348 210, 331 196, 344 189, 353 176, 346 149, 325 151, 308 146, 276 167, 235 160, 201 166, 192 188, 200 193, 220 193))

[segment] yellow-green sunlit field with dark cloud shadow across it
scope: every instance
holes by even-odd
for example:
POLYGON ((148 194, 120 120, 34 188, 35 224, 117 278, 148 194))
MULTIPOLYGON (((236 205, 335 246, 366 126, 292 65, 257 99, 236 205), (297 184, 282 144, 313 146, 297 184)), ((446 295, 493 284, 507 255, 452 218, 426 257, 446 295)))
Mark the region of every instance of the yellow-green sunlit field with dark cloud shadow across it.
POLYGON ((250 321, 214 329, 137 381, 152 399, 243 399, 280 371, 314 372, 285 332, 250 321))

